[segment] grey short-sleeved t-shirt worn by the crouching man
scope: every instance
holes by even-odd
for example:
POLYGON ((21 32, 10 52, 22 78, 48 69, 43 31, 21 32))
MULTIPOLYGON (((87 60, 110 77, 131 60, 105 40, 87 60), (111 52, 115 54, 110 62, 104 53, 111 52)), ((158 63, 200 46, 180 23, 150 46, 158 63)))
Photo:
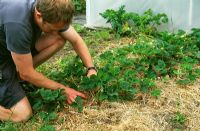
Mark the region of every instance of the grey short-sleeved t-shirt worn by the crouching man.
POLYGON ((35 0, 0 0, 0 55, 30 53, 41 34, 34 8, 35 0))

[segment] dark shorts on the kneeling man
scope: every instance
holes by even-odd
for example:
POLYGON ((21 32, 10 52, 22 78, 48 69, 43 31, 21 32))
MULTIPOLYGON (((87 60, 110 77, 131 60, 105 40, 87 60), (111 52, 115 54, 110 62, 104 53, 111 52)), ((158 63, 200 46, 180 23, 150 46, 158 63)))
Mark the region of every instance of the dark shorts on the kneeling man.
POLYGON ((0 105, 9 109, 26 95, 12 60, 1 61, 0 73, 0 105))

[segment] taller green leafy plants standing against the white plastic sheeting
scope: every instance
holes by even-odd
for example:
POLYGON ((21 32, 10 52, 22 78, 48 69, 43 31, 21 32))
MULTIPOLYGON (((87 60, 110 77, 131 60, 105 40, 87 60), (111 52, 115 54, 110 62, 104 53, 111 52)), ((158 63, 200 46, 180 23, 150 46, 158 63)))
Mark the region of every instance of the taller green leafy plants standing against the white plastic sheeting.
POLYGON ((117 11, 107 9, 100 15, 107 20, 107 23, 111 24, 118 36, 138 34, 139 32, 152 35, 156 33, 158 25, 168 22, 167 15, 164 13, 155 15, 151 9, 142 15, 133 12, 127 13, 124 5, 117 11))

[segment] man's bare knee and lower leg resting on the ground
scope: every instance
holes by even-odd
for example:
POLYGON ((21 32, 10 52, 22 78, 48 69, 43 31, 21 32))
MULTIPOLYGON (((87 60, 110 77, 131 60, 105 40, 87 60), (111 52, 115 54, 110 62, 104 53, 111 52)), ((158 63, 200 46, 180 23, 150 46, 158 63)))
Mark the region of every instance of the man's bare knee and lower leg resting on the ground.
POLYGON ((21 99, 17 104, 10 109, 6 109, 0 106, 0 120, 13 121, 13 122, 25 122, 32 115, 32 109, 27 97, 21 99))

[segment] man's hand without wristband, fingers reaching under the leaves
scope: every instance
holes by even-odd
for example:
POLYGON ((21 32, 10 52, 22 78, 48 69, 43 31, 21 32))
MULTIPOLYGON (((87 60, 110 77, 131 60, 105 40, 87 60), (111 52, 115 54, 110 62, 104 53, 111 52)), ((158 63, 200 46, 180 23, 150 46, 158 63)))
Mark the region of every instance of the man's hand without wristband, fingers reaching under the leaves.
POLYGON ((75 99, 76 99, 77 96, 80 96, 84 99, 87 99, 87 97, 83 93, 78 92, 78 91, 76 91, 72 88, 69 88, 69 87, 67 87, 65 89, 65 93, 67 95, 67 103, 68 104, 72 104, 73 102, 75 102, 75 99))

